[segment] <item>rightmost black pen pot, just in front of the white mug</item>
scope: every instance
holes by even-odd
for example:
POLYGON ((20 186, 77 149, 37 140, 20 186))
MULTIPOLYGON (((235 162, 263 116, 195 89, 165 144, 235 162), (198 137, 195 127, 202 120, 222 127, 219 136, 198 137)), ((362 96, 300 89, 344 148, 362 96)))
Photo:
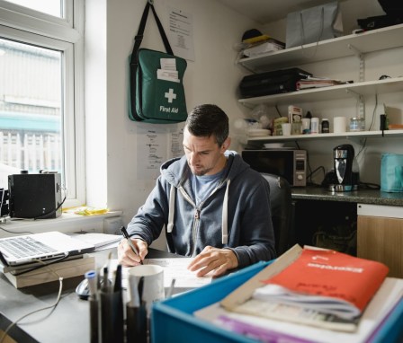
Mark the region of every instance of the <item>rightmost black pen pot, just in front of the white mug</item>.
POLYGON ((147 343, 147 312, 144 306, 126 305, 126 342, 147 343))

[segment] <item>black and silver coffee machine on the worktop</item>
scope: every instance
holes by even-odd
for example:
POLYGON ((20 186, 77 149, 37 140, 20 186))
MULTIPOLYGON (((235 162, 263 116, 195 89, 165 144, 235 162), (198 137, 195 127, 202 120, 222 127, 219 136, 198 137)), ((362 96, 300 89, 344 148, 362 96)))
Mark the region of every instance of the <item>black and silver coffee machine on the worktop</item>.
POLYGON ((337 145, 333 149, 335 183, 329 185, 330 190, 346 192, 358 189, 359 172, 355 161, 353 145, 337 145))

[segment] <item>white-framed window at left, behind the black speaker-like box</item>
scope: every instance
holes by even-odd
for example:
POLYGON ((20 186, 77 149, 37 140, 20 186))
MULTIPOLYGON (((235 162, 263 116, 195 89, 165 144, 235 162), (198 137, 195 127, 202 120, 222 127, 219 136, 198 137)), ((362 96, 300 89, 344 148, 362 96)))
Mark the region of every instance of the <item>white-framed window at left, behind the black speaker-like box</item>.
POLYGON ((0 188, 21 170, 60 172, 65 207, 85 203, 83 11, 0 0, 0 188))

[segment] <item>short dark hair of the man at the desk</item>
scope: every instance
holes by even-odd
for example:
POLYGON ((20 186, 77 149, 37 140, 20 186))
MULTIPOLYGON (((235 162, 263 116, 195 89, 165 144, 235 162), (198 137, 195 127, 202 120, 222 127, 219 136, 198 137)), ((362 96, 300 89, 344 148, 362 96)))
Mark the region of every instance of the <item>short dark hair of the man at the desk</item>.
POLYGON ((186 119, 186 128, 193 136, 214 136, 219 146, 228 138, 228 116, 217 105, 196 106, 186 119))

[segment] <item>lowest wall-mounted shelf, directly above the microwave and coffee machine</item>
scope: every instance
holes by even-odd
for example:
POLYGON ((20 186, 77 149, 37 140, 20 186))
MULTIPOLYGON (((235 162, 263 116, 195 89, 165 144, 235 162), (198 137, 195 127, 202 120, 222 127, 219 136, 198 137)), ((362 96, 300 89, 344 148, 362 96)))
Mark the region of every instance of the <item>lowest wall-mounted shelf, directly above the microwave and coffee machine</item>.
POLYGON ((317 139, 331 139, 331 138, 346 138, 346 139, 361 139, 361 138, 384 138, 384 137, 403 137, 403 130, 386 130, 383 131, 358 131, 358 132, 345 132, 342 134, 312 134, 312 135, 291 135, 291 136, 251 136, 248 137, 248 141, 259 142, 287 142, 295 140, 309 140, 312 138, 317 139))

